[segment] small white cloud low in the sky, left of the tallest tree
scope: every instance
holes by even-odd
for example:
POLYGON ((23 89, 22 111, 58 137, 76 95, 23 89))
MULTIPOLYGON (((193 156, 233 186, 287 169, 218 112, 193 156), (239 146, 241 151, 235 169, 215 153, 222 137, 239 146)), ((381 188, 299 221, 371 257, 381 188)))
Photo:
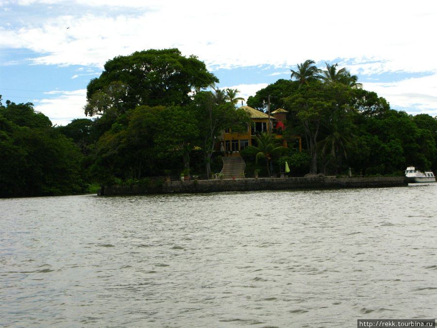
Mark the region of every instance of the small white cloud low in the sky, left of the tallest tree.
POLYGON ((34 101, 34 109, 50 118, 51 123, 67 125, 74 119, 86 118, 84 105, 86 104, 86 90, 50 91, 57 97, 34 101))

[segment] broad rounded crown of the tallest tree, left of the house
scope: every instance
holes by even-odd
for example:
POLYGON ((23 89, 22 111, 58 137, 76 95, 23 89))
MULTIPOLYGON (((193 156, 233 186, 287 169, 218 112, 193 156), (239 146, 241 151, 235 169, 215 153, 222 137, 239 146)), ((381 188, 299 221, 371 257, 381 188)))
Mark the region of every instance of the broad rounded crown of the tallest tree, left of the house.
POLYGON ((178 49, 134 52, 107 61, 101 76, 89 82, 85 114, 103 113, 115 104, 123 112, 137 105, 188 104, 192 90, 214 82, 218 79, 202 61, 182 56, 178 49), (108 87, 114 83, 115 96, 111 96, 108 87))

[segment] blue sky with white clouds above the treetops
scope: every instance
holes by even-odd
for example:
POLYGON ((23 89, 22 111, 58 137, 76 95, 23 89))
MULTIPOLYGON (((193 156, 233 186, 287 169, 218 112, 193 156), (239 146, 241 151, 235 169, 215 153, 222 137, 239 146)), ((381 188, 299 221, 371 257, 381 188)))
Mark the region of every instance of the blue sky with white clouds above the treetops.
POLYGON ((427 0, 0 0, 0 95, 66 125, 85 117, 106 61, 178 48, 245 99, 312 59, 345 67, 393 109, 435 117, 436 30, 427 0))

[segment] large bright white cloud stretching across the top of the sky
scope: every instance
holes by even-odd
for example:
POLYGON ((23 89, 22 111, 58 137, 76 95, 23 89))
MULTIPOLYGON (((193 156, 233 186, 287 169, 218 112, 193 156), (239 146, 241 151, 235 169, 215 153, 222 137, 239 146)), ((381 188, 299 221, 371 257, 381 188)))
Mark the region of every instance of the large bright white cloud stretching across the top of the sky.
POLYGON ((220 5, 195 0, 189 6, 174 0, 160 4, 135 0, 19 3, 120 8, 117 17, 110 17, 108 11, 60 15, 47 17, 41 26, 30 22, 16 31, 3 31, 0 44, 46 53, 35 60, 40 64, 101 67, 119 54, 178 47, 185 55, 198 55, 211 68, 260 63, 291 66, 308 58, 329 61, 341 57, 356 58, 357 65, 373 60, 362 66, 369 73, 437 70, 437 63, 429 59, 436 45, 424 33, 434 30, 437 11, 435 6, 426 6, 432 1, 420 6, 396 2, 393 6, 392 1, 371 0, 357 13, 355 5, 347 1, 316 0, 312 7, 318 10, 311 12, 310 21, 307 15, 299 15, 307 12, 307 4, 295 1, 272 0, 269 6, 229 0, 220 5), (126 8, 135 8, 137 13, 126 8), (327 20, 332 8, 336 19, 327 20))

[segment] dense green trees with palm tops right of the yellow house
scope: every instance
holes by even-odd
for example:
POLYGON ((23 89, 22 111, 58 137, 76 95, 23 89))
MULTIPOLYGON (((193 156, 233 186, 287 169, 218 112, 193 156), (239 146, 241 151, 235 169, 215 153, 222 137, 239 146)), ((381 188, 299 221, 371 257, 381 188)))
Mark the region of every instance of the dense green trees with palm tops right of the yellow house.
MULTIPOLYGON (((311 156, 309 173, 401 174, 408 165, 436 165, 436 120, 390 109, 384 98, 362 89, 347 69, 313 61, 298 65, 298 85, 284 92, 286 136, 304 139, 311 156)), ((267 88, 266 88, 267 89, 267 88)))

